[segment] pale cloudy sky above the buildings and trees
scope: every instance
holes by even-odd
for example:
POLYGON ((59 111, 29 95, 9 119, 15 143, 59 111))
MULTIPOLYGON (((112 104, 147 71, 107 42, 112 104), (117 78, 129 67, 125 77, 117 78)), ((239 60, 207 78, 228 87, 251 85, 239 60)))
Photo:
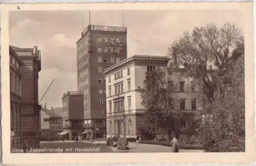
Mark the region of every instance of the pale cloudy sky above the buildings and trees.
MULTIPOLYGON (((88 11, 10 11, 10 45, 38 46, 42 53, 39 99, 55 79, 41 101, 49 108, 62 105, 63 93, 77 90, 76 42, 89 24, 88 17, 88 11)), ((184 31, 210 22, 222 26, 226 21, 243 31, 243 13, 238 10, 91 11, 91 24, 127 27, 128 57, 166 56, 184 31)))

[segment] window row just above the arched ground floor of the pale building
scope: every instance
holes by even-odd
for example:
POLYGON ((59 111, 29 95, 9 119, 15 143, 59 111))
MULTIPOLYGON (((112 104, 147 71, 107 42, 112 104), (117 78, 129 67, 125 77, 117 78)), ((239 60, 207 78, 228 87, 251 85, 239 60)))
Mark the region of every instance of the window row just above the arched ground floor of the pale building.
MULTIPOLYGON (((124 99, 114 101, 113 103, 114 103, 114 113, 125 111, 124 99)), ((132 110, 132 99, 131 99, 131 97, 127 98, 127 110, 128 111, 132 110)), ((110 100, 109 101, 109 112, 112 113, 112 111, 113 111, 112 100, 110 100)))

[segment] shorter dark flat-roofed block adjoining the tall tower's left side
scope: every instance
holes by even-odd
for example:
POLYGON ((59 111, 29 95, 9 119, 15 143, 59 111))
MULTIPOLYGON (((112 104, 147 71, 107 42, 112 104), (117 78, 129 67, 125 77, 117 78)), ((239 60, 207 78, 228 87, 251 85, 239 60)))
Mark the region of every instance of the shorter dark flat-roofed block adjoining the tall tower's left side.
POLYGON ((66 92, 62 97, 62 128, 60 135, 65 140, 73 140, 83 132, 83 93, 66 92))

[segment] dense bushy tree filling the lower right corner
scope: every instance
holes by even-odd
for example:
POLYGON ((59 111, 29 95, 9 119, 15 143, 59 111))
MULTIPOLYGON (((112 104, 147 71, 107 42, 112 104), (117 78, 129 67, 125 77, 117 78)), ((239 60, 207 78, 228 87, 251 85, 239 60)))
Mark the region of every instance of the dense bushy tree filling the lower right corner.
POLYGON ((210 105, 218 108, 200 127, 206 151, 245 151, 245 84, 244 56, 232 63, 231 84, 210 105))

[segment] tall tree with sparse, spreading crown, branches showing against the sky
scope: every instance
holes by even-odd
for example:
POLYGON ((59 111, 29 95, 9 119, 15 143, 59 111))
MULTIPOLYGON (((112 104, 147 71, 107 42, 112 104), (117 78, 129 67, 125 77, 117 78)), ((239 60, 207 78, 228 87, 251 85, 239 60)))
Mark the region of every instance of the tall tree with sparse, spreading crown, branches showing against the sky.
POLYGON ((214 100, 216 91, 224 91, 228 84, 227 71, 243 53, 244 38, 240 30, 228 22, 220 28, 214 23, 195 27, 191 34, 185 32, 167 50, 168 56, 177 59, 188 76, 199 81, 201 93, 209 102, 214 100), (211 72, 209 65, 215 68, 211 72))

